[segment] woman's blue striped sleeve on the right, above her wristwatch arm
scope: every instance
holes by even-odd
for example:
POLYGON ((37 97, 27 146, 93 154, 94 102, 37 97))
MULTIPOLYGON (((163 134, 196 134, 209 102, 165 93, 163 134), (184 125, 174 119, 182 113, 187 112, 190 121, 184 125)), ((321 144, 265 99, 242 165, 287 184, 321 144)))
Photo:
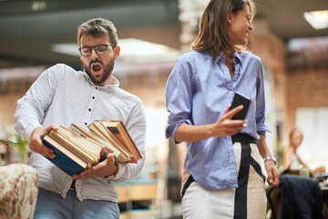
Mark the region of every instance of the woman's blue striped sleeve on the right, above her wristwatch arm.
POLYGON ((264 124, 265 122, 265 94, 264 94, 264 81, 263 71, 260 65, 259 73, 256 81, 256 131, 262 135, 266 135, 266 132, 272 132, 272 130, 264 124))

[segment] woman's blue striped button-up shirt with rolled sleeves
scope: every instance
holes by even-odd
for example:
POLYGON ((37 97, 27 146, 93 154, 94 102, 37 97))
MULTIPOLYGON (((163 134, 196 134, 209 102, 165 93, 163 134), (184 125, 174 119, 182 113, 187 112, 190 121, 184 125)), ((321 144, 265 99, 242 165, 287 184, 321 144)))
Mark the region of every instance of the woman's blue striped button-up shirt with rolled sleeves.
MULTIPOLYGON (((234 74, 225 65, 225 56, 213 58, 208 52, 192 51, 180 56, 167 82, 166 136, 174 139, 179 125, 206 125, 216 122, 231 104, 234 93, 251 98, 241 130, 259 140, 258 133, 270 131, 264 125, 265 100, 261 59, 249 52, 235 53, 234 74)), ((208 189, 236 188, 237 171, 231 136, 187 142, 185 169, 208 189)))

